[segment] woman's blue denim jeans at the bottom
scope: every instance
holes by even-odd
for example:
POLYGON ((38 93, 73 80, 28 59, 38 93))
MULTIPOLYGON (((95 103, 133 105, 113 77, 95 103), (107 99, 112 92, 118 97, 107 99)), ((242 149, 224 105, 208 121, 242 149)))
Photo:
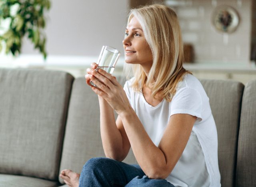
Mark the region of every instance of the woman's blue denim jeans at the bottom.
POLYGON ((79 187, 174 187, 165 179, 149 179, 139 165, 92 158, 84 165, 79 187))

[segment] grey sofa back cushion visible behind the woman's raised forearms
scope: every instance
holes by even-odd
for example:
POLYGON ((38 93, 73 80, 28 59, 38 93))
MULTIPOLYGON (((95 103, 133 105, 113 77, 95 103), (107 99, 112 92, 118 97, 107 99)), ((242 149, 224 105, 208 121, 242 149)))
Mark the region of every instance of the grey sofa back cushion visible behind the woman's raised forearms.
MULTIPOLYGON (((117 79, 124 85, 123 78, 117 79)), ((88 159, 104 156, 98 96, 83 77, 77 78, 72 87, 60 170, 72 169, 80 173, 88 159)), ((124 162, 136 163, 131 149, 124 162)), ((60 181, 63 183, 62 179, 60 181)))

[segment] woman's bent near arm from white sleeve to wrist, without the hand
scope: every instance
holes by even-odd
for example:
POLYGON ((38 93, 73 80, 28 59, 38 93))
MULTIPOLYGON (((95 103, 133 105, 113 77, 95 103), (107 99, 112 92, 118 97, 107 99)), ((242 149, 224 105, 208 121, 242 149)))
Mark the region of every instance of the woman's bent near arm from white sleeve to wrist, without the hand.
POLYGON ((172 115, 158 147, 151 141, 133 110, 124 111, 120 117, 144 173, 152 179, 168 177, 186 147, 196 117, 189 114, 172 115))

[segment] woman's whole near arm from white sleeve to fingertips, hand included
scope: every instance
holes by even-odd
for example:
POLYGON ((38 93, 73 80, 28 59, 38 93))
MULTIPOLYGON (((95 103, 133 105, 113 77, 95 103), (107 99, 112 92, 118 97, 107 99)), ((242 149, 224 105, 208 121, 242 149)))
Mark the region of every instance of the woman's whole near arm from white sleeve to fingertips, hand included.
POLYGON ((130 106, 120 84, 105 71, 99 70, 99 72, 94 76, 101 82, 95 78, 92 78, 92 81, 100 89, 92 88, 92 90, 102 96, 119 114, 136 160, 144 173, 153 179, 165 179, 182 155, 196 117, 189 114, 172 115, 156 147, 130 106))

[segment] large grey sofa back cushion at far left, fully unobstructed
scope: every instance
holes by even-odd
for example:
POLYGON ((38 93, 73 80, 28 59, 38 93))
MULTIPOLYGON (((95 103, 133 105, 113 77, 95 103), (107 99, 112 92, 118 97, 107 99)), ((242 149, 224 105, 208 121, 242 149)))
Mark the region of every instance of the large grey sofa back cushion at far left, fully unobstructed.
POLYGON ((58 179, 73 77, 0 69, 0 173, 58 179))

